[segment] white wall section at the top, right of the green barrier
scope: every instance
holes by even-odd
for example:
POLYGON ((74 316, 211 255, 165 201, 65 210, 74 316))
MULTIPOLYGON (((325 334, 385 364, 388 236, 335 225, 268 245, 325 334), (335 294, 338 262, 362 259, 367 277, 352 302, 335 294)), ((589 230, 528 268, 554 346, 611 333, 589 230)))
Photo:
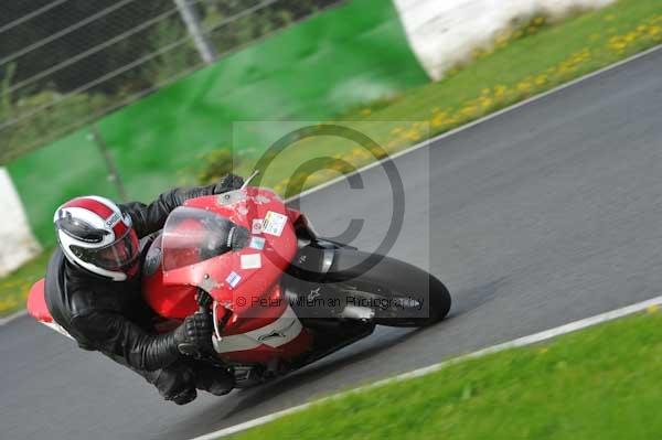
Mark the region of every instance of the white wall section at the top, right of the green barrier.
POLYGON ((409 44, 433 79, 488 46, 512 20, 538 13, 563 17, 573 9, 615 0, 394 0, 409 44))

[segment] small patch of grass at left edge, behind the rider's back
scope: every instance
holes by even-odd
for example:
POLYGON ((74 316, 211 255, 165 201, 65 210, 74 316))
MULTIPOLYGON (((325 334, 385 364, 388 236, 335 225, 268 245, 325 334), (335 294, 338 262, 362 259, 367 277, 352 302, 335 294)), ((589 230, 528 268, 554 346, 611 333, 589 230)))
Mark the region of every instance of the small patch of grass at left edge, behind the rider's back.
POLYGON ((44 277, 51 250, 43 251, 18 270, 0 279, 0 316, 25 308, 28 292, 34 282, 44 277))

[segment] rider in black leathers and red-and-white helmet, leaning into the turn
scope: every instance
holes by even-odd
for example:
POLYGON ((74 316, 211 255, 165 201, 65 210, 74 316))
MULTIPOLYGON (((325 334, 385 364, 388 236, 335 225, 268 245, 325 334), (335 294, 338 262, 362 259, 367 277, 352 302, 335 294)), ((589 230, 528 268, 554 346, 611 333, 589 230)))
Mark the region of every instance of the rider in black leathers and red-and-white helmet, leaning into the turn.
POLYGON ((143 258, 139 238, 161 229, 184 201, 241 187, 228 174, 221 183, 178 189, 149 205, 117 205, 98 196, 76 197, 55 212, 58 247, 46 273, 49 311, 78 346, 99 351, 140 374, 161 396, 185 405, 196 389, 224 395, 234 386, 226 369, 191 354, 211 350, 209 314, 196 312, 169 333, 158 334, 156 314, 140 294, 143 258))

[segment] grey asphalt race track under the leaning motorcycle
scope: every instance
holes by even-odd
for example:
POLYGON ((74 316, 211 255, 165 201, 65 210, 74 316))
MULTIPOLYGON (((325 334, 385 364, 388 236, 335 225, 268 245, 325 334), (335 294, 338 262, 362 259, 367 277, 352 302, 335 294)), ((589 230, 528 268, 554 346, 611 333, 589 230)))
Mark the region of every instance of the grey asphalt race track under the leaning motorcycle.
MULTIPOLYGON (((0 438, 188 439, 660 294, 662 51, 395 161, 406 216, 391 255, 453 294, 449 319, 367 340, 261 388, 163 403, 134 373, 28 318, 0 329, 0 438)), ((381 168, 302 200, 318 232, 391 218, 381 168)), ((348 417, 351 417, 348 415, 348 417)))

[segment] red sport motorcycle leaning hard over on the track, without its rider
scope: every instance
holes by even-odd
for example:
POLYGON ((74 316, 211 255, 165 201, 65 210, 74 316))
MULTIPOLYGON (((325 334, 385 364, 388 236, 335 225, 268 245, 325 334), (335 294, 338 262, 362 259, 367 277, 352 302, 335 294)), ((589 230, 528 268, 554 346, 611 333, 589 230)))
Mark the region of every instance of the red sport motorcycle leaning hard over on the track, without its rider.
MULTIPOLYGON (((237 388, 311 364, 373 333, 376 325, 420 328, 451 303, 433 275, 397 259, 319 237, 301 212, 273 191, 249 186, 186 201, 142 244, 142 294, 158 332, 203 311, 213 353, 237 388)), ((44 280, 29 313, 67 335, 51 316, 44 280)), ((70 336, 71 337, 71 336, 70 336)))

